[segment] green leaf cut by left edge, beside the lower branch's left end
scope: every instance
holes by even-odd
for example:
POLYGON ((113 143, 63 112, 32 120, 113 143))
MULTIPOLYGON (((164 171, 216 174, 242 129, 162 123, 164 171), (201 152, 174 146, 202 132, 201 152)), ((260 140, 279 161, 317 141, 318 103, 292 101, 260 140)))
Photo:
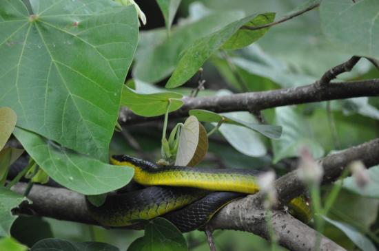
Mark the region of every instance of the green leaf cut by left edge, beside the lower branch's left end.
POLYGON ((17 216, 12 215, 12 208, 19 206, 25 200, 23 195, 14 193, 7 188, 0 187, 0 237, 10 234, 10 227, 17 216))

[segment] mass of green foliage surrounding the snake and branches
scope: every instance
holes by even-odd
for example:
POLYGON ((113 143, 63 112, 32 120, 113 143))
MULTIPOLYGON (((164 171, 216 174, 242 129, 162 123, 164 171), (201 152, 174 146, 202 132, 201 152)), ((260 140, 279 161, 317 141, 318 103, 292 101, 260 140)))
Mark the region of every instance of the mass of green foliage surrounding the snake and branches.
MULTIPOLYGON (((143 8, 134 1, 0 1, 0 250, 25 250, 20 243, 31 250, 116 251, 126 246, 127 250, 187 250, 187 242, 190 246, 202 239, 196 236, 194 241, 191 234, 196 233, 183 235, 170 221, 157 218, 145 222, 143 237, 127 240, 131 245, 119 242, 125 232, 119 237, 94 227, 89 227, 92 242, 87 242, 87 226, 83 230, 70 225, 79 233, 66 238, 47 227, 60 228, 62 223, 55 221, 30 221, 48 229, 32 241, 25 241, 14 224, 12 237, 18 243, 10 237, 17 219, 11 210, 25 197, 10 188, 26 173, 29 188, 50 177, 65 188, 95 195, 89 200, 101 204, 105 193, 122 188, 134 175, 128 166, 108 164, 110 153, 149 153, 151 159, 183 166, 272 165, 286 173, 287 160, 298 157, 303 146, 319 158, 376 137, 378 98, 276 107, 260 115, 255 107, 248 107, 251 113, 247 109, 229 113, 217 113, 217 107, 214 111, 192 109, 186 120, 170 118, 170 113, 180 111, 196 96, 218 98, 233 92, 298 87, 315 83, 327 69, 352 55, 379 60, 376 0, 323 0, 320 8, 269 25, 319 2, 156 0, 155 12, 165 27, 140 31, 143 8), (121 107, 145 118, 165 118, 163 123, 124 127, 114 133, 121 107), (30 155, 30 163, 7 183, 10 166, 23 153, 7 143, 15 139, 30 155)), ((154 17, 151 20, 147 16, 154 23, 154 17)), ((369 61, 362 59, 338 80, 378 76, 369 61)), ((345 247, 376 250, 379 246, 375 235, 378 166, 368 172, 371 181, 364 189, 352 177, 322 187, 325 196, 319 194, 318 186, 316 190, 310 187, 316 212, 323 215, 316 218, 315 227, 325 234, 331 225, 342 230, 333 238, 345 247), (346 191, 341 189, 354 193, 353 199, 344 200, 346 191), (370 215, 358 212, 367 208, 356 206, 367 197, 367 208, 373 208, 370 215), (351 208, 352 216, 336 213, 344 207, 351 208), (364 218, 365 226, 349 220, 357 215, 364 218)), ((265 241, 257 242, 267 248, 265 241)), ((224 245, 228 250, 242 250, 243 241, 235 247, 224 245)))

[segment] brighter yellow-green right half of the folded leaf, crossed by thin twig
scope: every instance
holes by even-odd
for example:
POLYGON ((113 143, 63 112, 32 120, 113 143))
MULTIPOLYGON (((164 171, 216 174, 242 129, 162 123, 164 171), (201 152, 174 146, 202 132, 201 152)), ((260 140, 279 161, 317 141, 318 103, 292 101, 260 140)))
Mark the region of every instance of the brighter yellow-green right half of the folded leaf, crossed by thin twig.
MULTIPOLYGON (((275 19, 275 13, 267 12, 265 14, 259 14, 252 21, 245 23, 244 26, 257 27, 260 25, 265 25, 267 23, 272 23, 275 19)), ((247 30, 240 28, 236 33, 233 34, 223 45, 225 50, 237 50, 247 45, 250 45, 260 39, 267 31, 269 27, 260 30, 247 30)))

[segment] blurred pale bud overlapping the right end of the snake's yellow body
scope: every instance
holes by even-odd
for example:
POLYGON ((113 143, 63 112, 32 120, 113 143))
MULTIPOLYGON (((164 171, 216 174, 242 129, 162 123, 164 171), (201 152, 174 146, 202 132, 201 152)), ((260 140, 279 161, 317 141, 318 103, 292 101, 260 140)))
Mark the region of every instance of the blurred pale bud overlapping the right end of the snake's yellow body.
POLYGON ((272 208, 278 203, 278 193, 276 192, 274 182, 276 175, 273 171, 263 173, 258 176, 258 186, 262 193, 267 196, 264 206, 265 208, 272 208))

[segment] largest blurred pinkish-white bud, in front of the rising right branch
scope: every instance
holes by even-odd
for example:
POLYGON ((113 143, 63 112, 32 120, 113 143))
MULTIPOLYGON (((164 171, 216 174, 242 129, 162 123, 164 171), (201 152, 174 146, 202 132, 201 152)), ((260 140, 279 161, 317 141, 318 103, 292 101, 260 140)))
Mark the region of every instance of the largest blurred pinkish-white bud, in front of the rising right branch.
POLYGON ((306 184, 320 184, 324 170, 312 157, 307 148, 300 150, 297 170, 298 179, 306 184))

